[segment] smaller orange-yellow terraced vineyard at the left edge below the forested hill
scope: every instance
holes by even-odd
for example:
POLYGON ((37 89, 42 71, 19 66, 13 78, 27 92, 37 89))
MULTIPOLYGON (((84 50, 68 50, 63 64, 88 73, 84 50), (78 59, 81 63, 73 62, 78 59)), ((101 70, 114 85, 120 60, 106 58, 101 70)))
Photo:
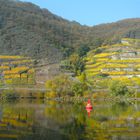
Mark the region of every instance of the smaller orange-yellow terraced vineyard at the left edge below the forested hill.
POLYGON ((0 85, 35 83, 33 60, 23 56, 0 56, 0 85))

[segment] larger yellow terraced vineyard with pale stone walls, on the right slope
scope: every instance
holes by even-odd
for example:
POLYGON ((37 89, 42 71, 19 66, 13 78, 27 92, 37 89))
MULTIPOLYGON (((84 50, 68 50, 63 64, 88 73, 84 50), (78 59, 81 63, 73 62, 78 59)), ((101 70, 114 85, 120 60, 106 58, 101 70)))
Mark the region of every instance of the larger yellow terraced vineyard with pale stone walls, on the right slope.
POLYGON ((101 53, 93 50, 86 57, 89 79, 104 76, 111 79, 140 80, 140 40, 122 39, 120 44, 103 46, 101 53))

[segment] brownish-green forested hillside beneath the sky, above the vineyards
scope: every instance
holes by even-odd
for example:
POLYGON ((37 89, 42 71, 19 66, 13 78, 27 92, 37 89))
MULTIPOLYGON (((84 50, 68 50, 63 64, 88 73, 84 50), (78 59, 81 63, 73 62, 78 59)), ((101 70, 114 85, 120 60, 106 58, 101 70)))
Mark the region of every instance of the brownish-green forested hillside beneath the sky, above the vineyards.
POLYGON ((140 18, 81 26, 31 3, 0 0, 0 52, 57 63, 83 45, 93 49, 122 37, 140 38, 139 23, 140 18))

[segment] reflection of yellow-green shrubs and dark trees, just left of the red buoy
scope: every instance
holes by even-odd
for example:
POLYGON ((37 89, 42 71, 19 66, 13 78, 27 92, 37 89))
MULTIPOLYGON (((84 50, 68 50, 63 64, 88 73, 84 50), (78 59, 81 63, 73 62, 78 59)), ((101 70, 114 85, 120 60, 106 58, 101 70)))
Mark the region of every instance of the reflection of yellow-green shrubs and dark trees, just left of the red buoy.
POLYGON ((82 103, 60 103, 51 102, 50 108, 46 107, 46 116, 56 122, 60 133, 67 137, 67 140, 77 140, 84 134, 86 124, 86 110, 82 103))

